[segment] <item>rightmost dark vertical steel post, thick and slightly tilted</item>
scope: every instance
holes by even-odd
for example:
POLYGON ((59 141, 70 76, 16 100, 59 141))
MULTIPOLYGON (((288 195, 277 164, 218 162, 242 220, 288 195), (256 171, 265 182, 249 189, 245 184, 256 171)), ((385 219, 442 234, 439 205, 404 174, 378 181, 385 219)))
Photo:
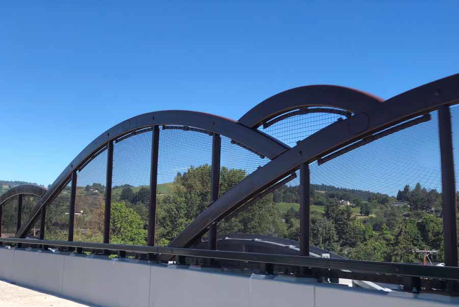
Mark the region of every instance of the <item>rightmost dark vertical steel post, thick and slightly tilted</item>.
POLYGON ((456 199, 452 151, 451 113, 449 106, 438 109, 440 154, 442 162, 443 234, 445 264, 457 266, 456 199))

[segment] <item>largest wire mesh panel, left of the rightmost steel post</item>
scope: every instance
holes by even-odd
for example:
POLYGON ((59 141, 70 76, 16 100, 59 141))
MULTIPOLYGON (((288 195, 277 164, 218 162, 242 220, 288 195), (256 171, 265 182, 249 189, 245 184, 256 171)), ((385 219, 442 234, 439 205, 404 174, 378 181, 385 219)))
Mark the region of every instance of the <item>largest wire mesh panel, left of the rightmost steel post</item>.
POLYGON ((311 165, 311 245, 358 260, 443 261, 437 112, 431 116, 311 165))

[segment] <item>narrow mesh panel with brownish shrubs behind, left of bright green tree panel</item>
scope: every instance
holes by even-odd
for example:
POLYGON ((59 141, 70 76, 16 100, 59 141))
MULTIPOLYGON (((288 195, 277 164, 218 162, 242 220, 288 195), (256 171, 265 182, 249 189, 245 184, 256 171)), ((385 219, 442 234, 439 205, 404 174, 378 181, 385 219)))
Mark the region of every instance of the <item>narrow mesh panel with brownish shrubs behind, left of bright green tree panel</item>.
POLYGON ((106 176, 107 150, 78 173, 73 241, 104 242, 106 176))

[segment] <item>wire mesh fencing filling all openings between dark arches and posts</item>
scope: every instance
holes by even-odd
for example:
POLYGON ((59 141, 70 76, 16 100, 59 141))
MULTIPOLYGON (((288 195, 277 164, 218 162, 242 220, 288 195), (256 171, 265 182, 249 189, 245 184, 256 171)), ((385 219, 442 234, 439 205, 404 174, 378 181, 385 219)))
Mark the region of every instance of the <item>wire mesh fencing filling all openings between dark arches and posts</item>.
MULTIPOLYGON (((458 110, 451 108, 454 143, 458 110)), ((349 259, 444 261, 438 114, 430 115, 426 122, 310 165, 311 245, 349 259)), ((295 146, 340 117, 301 114, 264 132, 295 146)), ((147 132, 114 145, 110 243, 146 244, 151 143, 152 133, 147 132)), ((161 246, 210 205, 212 136, 161 129, 159 143, 156 245, 161 246)), ((459 159, 456 150, 454 156, 459 159)), ((268 162, 222 136, 219 195, 268 162)), ((78 174, 75 241, 103 242, 106 164, 104 151, 78 174)), ((222 220, 218 233, 298 241, 301 193, 299 171, 295 174, 293 180, 254 197, 222 220)), ((66 240, 69 197, 70 185, 49 204, 45 239, 66 240)), ((16 230, 17 198, 13 199, 4 206, 3 234, 16 230)), ((24 198, 23 222, 36 200, 24 198)), ((29 236, 37 236, 36 230, 29 236)))

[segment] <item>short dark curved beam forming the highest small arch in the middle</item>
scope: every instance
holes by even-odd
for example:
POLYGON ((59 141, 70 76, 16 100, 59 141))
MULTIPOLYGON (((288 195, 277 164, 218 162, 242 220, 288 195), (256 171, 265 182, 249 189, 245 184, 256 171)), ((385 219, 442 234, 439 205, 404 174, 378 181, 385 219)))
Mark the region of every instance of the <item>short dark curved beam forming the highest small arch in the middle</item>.
POLYGON ((336 85, 309 85, 293 88, 262 101, 238 121, 258 128, 278 115, 305 107, 333 107, 360 113, 368 106, 376 107, 382 100, 365 92, 336 85))

